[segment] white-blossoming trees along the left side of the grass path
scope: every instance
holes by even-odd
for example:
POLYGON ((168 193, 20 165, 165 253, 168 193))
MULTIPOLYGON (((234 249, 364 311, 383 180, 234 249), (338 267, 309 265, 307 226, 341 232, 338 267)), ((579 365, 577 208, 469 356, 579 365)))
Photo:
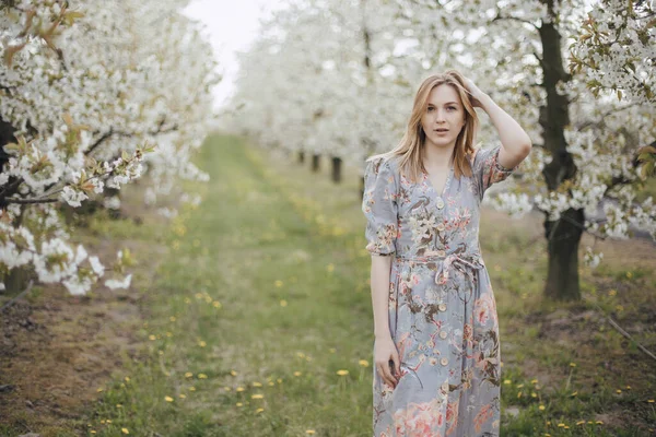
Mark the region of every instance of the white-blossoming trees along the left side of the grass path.
POLYGON ((129 286, 131 275, 114 277, 122 251, 105 268, 71 243, 62 204, 105 197, 117 208, 118 190, 145 173, 148 204, 180 178, 207 180, 190 160, 221 78, 188 2, 0 3, 0 290, 19 271, 72 294, 101 277, 129 286))

